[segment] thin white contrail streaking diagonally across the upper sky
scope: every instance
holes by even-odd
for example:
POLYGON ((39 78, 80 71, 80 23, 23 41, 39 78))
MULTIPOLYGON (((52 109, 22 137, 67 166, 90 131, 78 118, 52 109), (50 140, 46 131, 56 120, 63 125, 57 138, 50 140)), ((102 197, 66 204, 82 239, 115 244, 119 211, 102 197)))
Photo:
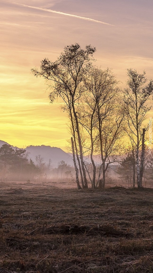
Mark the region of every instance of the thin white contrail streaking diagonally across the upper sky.
POLYGON ((67 16, 71 16, 71 17, 77 17, 77 18, 80 18, 80 19, 83 19, 83 20, 92 21, 92 22, 96 22, 96 23, 100 23, 100 24, 104 24, 104 25, 114 26, 114 25, 111 25, 109 23, 105 23, 105 22, 102 22, 102 21, 98 21, 98 20, 94 20, 94 19, 91 19, 91 18, 86 18, 86 17, 74 15, 74 14, 64 13, 64 12, 61 12, 61 11, 48 10, 47 8, 38 8, 38 7, 28 6, 28 5, 19 4, 19 3, 14 3, 14 4, 20 5, 20 6, 23 6, 23 7, 33 8, 35 10, 42 10, 42 11, 47 11, 47 12, 51 12, 51 13, 58 13, 58 14, 67 15, 67 16))

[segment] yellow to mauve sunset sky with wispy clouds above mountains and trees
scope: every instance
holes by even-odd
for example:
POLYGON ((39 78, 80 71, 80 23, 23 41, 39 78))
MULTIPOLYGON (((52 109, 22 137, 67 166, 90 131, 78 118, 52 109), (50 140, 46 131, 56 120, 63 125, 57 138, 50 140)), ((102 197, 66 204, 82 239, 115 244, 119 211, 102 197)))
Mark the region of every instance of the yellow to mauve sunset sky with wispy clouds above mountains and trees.
POLYGON ((30 70, 67 45, 95 46, 96 66, 112 69, 121 88, 127 68, 153 78, 152 11, 152 0, 1 0, 0 139, 66 151, 68 118, 30 70))

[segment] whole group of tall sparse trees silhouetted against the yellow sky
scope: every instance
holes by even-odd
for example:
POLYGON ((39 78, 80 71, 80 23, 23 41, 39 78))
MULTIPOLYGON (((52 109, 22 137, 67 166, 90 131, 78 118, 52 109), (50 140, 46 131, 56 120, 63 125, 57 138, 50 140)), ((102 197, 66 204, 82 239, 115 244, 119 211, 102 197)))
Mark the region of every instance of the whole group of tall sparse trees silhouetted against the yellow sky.
MULTIPOLYGON (((32 73, 45 79, 51 103, 58 97, 63 100, 61 108, 70 121, 78 188, 88 188, 88 183, 93 188, 105 187, 106 171, 111 164, 119 163, 125 153, 125 135, 133 151, 133 171, 136 156, 137 185, 141 187, 148 130, 143 122, 151 109, 148 103, 153 94, 153 81, 146 84, 145 72, 139 74, 128 69, 127 88, 123 91, 112 70, 93 66, 95 51, 91 45, 84 49, 78 43, 68 45, 55 62, 45 58, 40 70, 33 68, 32 73), (94 160, 95 153, 100 155, 99 164, 94 160)), ((133 185, 134 177, 135 173, 133 185)))

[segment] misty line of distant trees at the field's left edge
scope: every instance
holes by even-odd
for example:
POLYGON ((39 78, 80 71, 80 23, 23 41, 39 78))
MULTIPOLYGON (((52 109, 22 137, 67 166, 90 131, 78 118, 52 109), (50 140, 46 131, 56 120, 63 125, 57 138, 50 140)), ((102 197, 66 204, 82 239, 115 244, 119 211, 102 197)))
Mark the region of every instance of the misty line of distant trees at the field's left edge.
POLYGON ((24 149, 13 149, 9 144, 0 148, 0 179, 8 181, 44 181, 51 179, 69 179, 74 175, 74 168, 60 161, 57 168, 51 167, 51 159, 44 162, 41 155, 37 155, 35 163, 28 160, 28 153, 24 149))

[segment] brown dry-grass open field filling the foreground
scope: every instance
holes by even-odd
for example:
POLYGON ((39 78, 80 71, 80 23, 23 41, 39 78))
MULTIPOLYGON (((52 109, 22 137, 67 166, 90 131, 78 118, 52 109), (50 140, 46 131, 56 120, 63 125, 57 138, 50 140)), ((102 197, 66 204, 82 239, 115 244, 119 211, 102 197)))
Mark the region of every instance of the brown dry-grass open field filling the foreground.
POLYGON ((153 272, 152 189, 63 186, 0 184, 0 273, 153 272))

